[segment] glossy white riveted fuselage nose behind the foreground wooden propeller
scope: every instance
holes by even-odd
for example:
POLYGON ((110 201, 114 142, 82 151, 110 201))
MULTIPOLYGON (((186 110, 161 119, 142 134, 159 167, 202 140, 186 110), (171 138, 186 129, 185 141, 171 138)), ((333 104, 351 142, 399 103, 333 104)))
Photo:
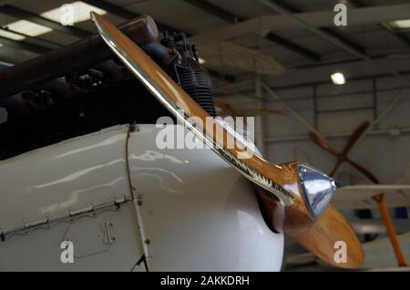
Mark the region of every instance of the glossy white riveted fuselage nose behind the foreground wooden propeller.
POLYGON ((250 182, 211 150, 159 150, 159 130, 117 126, 1 161, 0 271, 279 271, 283 236, 250 182))

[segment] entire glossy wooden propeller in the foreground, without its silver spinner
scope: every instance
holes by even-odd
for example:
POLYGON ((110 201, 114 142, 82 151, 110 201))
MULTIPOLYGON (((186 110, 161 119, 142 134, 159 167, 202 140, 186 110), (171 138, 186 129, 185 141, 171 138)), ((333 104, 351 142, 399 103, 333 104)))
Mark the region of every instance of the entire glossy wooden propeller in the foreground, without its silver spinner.
POLYGON ((345 264, 336 265, 351 268, 363 263, 361 244, 340 212, 331 206, 322 217, 314 219, 308 211, 302 199, 297 162, 275 165, 263 160, 254 152, 249 158, 241 158, 243 150, 240 149, 244 145, 243 140, 240 140, 230 130, 223 128, 217 120, 211 119, 210 115, 201 109, 182 88, 179 88, 167 73, 108 20, 95 13, 92 13, 92 18, 98 33, 106 41, 108 47, 149 89, 152 95, 182 121, 187 121, 186 115, 201 119, 201 124, 206 124, 206 126, 202 125, 201 130, 189 127, 191 131, 200 140, 205 141, 221 158, 230 162, 233 168, 262 188, 258 194, 267 214, 271 216, 270 223, 273 229, 300 236, 299 241, 308 250, 331 264, 334 256, 334 251, 333 253, 330 251, 333 241, 341 239, 347 243, 348 253, 351 252, 354 255, 349 254, 345 264), (184 110, 183 116, 179 115, 179 109, 184 110), (239 146, 228 147, 230 140, 234 140, 239 146), (326 244, 322 246, 321 243, 326 244))

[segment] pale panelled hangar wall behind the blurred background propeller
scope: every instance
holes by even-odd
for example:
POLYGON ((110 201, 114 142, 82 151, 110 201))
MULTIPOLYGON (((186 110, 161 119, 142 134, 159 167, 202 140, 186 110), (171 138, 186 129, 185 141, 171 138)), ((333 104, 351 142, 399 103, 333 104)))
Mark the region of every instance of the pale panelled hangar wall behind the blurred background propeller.
MULTIPOLYGON (((365 120, 372 121, 374 119, 373 109, 354 110, 354 108, 373 106, 373 85, 372 79, 348 81, 343 87, 336 87, 332 84, 318 85, 316 87, 318 110, 353 110, 319 114, 317 128, 323 134, 346 133, 346 135, 350 135, 365 120), (337 97, 332 97, 332 95, 337 95, 337 97), (321 98, 321 96, 325 97, 321 98)), ((378 114, 397 94, 402 92, 403 95, 402 100, 379 122, 375 130, 410 128, 410 115, 407 111, 407 108, 410 108, 410 98, 408 98, 410 89, 403 90, 403 87, 403 83, 395 78, 377 78, 375 80, 376 111, 378 114)), ((293 109, 301 113, 311 124, 314 124, 314 88, 312 86, 279 89, 276 92, 283 99, 287 99, 293 109), (291 100, 292 98, 305 97, 310 98, 291 100)), ((283 109, 279 103, 268 103, 267 106, 270 109, 283 109)), ((269 159, 274 162, 298 159, 308 161, 322 171, 331 171, 335 158, 307 138, 307 133, 308 131, 290 114, 265 117, 266 148, 269 159), (275 126, 275 124, 280 125, 275 126), (298 138, 288 138, 291 136, 298 138)), ((336 149, 343 150, 347 137, 333 137, 329 140, 336 149)), ((394 182, 402 174, 407 162, 410 161, 410 132, 401 132, 397 136, 391 134, 369 135, 352 150, 350 156, 354 161, 358 161, 373 171, 381 182, 394 182)), ((343 164, 338 172, 339 175, 341 173, 344 175, 338 176, 338 178, 343 178, 346 175, 361 176, 360 173, 346 164, 343 164)), ((363 183, 363 180, 358 182, 363 183)))

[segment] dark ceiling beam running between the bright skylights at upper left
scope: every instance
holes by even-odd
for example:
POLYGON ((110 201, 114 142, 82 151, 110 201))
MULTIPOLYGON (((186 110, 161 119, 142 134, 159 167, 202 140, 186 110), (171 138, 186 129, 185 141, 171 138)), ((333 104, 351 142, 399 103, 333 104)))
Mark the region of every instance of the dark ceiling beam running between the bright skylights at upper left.
POLYGON ((0 6, 0 12, 4 13, 7 16, 13 16, 18 19, 26 19, 27 21, 34 22, 41 26, 49 27, 53 30, 66 33, 69 35, 77 36, 79 38, 90 36, 91 33, 87 30, 75 27, 75 26, 62 26, 60 23, 47 19, 42 16, 38 16, 35 13, 26 11, 24 9, 12 6, 12 5, 3 5, 0 6))

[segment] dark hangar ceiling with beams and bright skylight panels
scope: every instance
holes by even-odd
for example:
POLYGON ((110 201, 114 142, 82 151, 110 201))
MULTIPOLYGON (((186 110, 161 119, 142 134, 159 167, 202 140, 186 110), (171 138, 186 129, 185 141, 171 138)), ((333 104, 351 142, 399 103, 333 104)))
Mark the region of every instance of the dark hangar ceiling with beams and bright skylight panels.
MULTIPOLYGON (((208 36, 217 41, 222 38, 272 57, 284 67, 284 73, 268 78, 268 82, 276 86, 329 80, 329 73, 335 67, 343 69, 348 78, 408 70, 405 64, 409 60, 410 29, 396 29, 391 25, 394 20, 410 19, 410 9, 405 9, 410 4, 405 0, 344 1, 351 9, 351 17, 348 26, 343 28, 324 26, 331 22, 329 17, 333 16, 333 7, 339 1, 243 0, 241 5, 237 0, 73 2, 81 12, 77 14, 83 18, 75 19, 74 26, 61 26, 53 11, 58 11, 67 0, 0 1, 0 60, 17 63, 93 34, 94 27, 87 19, 87 12, 98 9, 116 25, 148 14, 156 19, 160 29, 185 31, 194 39, 208 36), (303 19, 324 37, 283 13, 303 19), (229 37, 223 36, 223 32, 229 37), (335 45, 334 40, 340 45, 335 45), (358 56, 374 60, 375 65, 358 56)), ((218 77, 219 85, 233 78, 251 77, 249 71, 238 67, 218 67, 210 63, 205 66, 218 77)))

